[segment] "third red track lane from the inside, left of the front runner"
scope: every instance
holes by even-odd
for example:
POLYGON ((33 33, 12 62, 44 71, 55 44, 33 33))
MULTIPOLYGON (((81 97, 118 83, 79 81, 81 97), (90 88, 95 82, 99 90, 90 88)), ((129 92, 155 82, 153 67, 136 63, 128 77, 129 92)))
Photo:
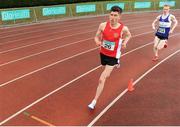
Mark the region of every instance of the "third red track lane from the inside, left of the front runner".
MULTIPOLYGON (((141 32, 143 32, 141 30, 141 32)), ((136 36, 136 35, 135 35, 136 36)), ((148 36, 145 35, 145 36, 148 36)), ((135 38, 138 38, 136 36, 135 38)), ((133 40, 132 40, 133 41, 133 40)), ((72 55, 76 55, 81 52, 85 52, 88 49, 95 48, 95 44, 93 40, 85 41, 86 43, 80 43, 78 45, 72 45, 68 47, 61 48, 60 50, 55 50, 49 53, 41 54, 36 57, 32 57, 27 60, 22 60, 19 62, 15 62, 13 64, 2 66, 1 75, 2 79, 0 79, 1 86, 4 86, 6 82, 9 80, 13 80, 15 78, 21 77, 33 71, 36 71, 40 68, 44 68, 45 66, 49 66, 50 64, 54 64, 62 59, 71 57, 72 55), (79 48, 81 46, 81 48, 79 48), (67 53, 68 51, 68 53, 67 53), (59 54, 59 55, 57 55, 59 54), (41 61, 39 61, 41 59, 41 61), (30 64, 31 63, 31 64, 30 64), (21 66, 19 66, 21 65, 21 66), (27 68, 28 67, 28 68, 27 68), (18 69, 18 71, 16 71, 18 69)), ((24 77, 24 76, 23 76, 24 77)))

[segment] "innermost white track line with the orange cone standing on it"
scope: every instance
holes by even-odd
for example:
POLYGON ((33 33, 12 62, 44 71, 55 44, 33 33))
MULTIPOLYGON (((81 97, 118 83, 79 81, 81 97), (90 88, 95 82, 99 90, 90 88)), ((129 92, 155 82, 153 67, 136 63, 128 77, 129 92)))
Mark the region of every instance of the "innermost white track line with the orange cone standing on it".
MULTIPOLYGON (((151 69, 149 69, 148 71, 146 71, 143 75, 141 75, 136 81, 133 82, 133 85, 136 85, 141 79, 143 79, 146 75, 148 75, 151 71, 153 71, 156 67, 158 67, 159 65, 161 65, 162 63, 164 63, 166 60, 168 60, 169 58, 173 57, 174 55, 176 55, 177 53, 180 52, 180 49, 177 50, 176 52, 172 53, 171 55, 169 55, 168 57, 166 57, 165 59, 163 59, 162 61, 160 61, 159 63, 157 63, 155 66, 153 66, 151 69)), ((104 108, 98 116, 96 116, 91 123, 89 123, 88 127, 93 126, 126 92, 128 91, 128 89, 125 89, 122 93, 120 93, 106 108, 104 108)))

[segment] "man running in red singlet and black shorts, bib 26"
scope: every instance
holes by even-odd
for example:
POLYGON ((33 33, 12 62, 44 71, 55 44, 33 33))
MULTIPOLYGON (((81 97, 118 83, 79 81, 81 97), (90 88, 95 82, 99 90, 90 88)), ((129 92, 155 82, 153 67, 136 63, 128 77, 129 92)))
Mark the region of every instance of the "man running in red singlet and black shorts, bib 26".
POLYGON ((100 59, 104 67, 99 78, 96 95, 88 105, 94 109, 96 102, 101 95, 106 79, 110 76, 113 68, 119 65, 121 56, 121 46, 126 48, 126 44, 131 37, 127 26, 120 23, 122 9, 119 6, 113 6, 110 11, 109 21, 101 23, 95 36, 97 46, 100 46, 100 59))

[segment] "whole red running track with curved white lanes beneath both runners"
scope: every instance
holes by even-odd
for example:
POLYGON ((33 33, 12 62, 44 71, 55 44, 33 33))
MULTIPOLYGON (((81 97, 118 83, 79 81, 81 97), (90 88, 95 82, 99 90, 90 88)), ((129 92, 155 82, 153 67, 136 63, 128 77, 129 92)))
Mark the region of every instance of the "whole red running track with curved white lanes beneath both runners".
MULTIPOLYGON (((178 11, 174 12, 175 15, 178 13, 178 11)), ((93 36, 99 23, 106 20, 105 17, 3 29, 0 32, 2 39, 0 42, 1 125, 43 126, 51 123, 49 125, 57 126, 91 123, 114 98, 127 88, 130 78, 138 79, 147 70, 158 64, 158 62, 151 61, 154 37, 151 23, 157 15, 158 13, 142 13, 123 16, 122 20, 129 27, 133 38, 129 42, 128 48, 123 50, 121 68, 114 70, 107 81, 105 91, 94 112, 90 112, 87 105, 94 97, 102 68, 99 66, 98 49, 94 44, 93 36), (83 25, 84 23, 87 25, 83 25), (27 113, 31 116, 27 116, 27 113)), ((179 20, 179 17, 177 19, 179 20)), ((178 26, 169 39, 169 47, 160 53, 161 60, 180 49, 179 32, 178 26)), ((178 70, 176 69, 176 71, 178 70)), ((162 81, 162 79, 156 80, 162 81)), ((145 89, 145 85, 149 84, 149 81, 143 78, 142 82, 145 89)), ((175 86, 177 84, 178 82, 175 86)), ((140 91, 143 95, 142 88, 138 88, 138 86, 135 92, 140 91)), ((157 86, 158 89, 162 92, 160 86, 157 86)), ((168 91, 168 88, 166 90, 168 91)), ((135 92, 130 95, 137 96, 135 92)), ((144 93, 145 95, 146 93, 144 93)), ((134 103, 131 99, 126 99, 124 103, 120 99, 118 102, 120 103, 119 107, 134 103)), ((146 103, 151 104, 152 102, 146 101, 146 103)), ((137 107, 140 104, 137 103, 137 107)), ((130 109, 136 113, 139 112, 139 109, 136 110, 137 107, 133 106, 130 109)), ((176 110, 178 107, 177 105, 176 110)), ((118 110, 116 113, 121 114, 121 112, 130 110, 125 107, 123 111, 120 109, 122 108, 116 108, 115 110, 118 110)), ((148 109, 152 110, 151 107, 148 109)), ((148 109, 142 110, 142 112, 148 114, 148 109)), ((163 110, 163 112, 166 111, 170 117, 171 112, 163 110)), ((115 112, 107 114, 114 116, 113 113, 115 112)), ((175 115, 178 116, 178 114, 175 115)), ((104 115, 97 124, 113 125, 111 121, 108 123, 103 120, 107 117, 104 115)), ((131 123, 138 121, 137 116, 134 116, 136 118, 134 121, 128 119, 129 122, 127 120, 118 121, 118 117, 111 118, 117 121, 116 125, 133 125, 131 123)), ((151 121, 149 118, 147 120, 140 120, 134 125, 153 124, 153 120, 151 121)), ((174 123, 173 120, 169 119, 169 123, 174 123)))

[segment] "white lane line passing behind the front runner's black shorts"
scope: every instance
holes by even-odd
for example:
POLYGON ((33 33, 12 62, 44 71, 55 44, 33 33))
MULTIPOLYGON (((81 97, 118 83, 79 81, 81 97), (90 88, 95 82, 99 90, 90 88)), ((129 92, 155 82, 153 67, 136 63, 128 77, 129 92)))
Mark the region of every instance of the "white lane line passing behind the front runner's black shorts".
MULTIPOLYGON (((150 45, 150 44, 152 44, 152 43, 149 43, 149 44, 146 44, 146 45, 150 45)), ((144 45, 143 45, 143 46, 140 46, 140 47, 143 48, 144 45)), ((138 49, 141 49, 140 47, 138 47, 138 48, 136 48, 136 49, 133 49, 133 52, 137 51, 138 49)), ((128 54, 130 54, 130 53, 132 53, 132 51, 127 52, 127 53, 125 53, 125 54, 122 54, 121 57, 123 57, 123 56, 125 56, 125 55, 128 55, 128 54)), ((32 107, 33 105, 37 104, 38 102, 44 100, 44 99, 47 98, 48 96, 50 96, 50 95, 56 93, 57 91, 61 90, 61 89, 64 88, 64 87, 68 86, 69 84, 71 84, 71 83, 73 83, 73 82, 75 82, 75 81, 81 79, 82 77, 88 75, 89 73, 91 73, 91 72, 93 72, 93 71, 99 69, 101 66, 102 66, 102 65, 99 65, 99 66, 97 66, 97 67, 91 69, 90 71, 88 71, 88 72, 86 72, 86 73, 84 73, 84 74, 78 76, 77 78, 75 78, 75 79, 69 81, 68 83, 66 83, 66 84, 64 84, 64 85, 62 85, 62 86, 60 86, 60 87, 58 87, 57 89, 53 90, 52 92, 50 92, 50 93, 46 94, 45 96, 39 98, 39 99, 36 100, 35 102, 31 103, 30 105, 24 107, 24 108, 21 109, 20 111, 14 113, 14 114, 11 115, 10 117, 8 117, 8 118, 6 118, 5 120, 3 120, 2 122, 0 122, 0 125, 6 123, 7 121, 9 121, 9 120, 11 120, 12 118, 16 117, 17 115, 19 115, 20 113, 24 112, 24 111, 27 110, 28 108, 30 108, 30 107, 32 107)))

